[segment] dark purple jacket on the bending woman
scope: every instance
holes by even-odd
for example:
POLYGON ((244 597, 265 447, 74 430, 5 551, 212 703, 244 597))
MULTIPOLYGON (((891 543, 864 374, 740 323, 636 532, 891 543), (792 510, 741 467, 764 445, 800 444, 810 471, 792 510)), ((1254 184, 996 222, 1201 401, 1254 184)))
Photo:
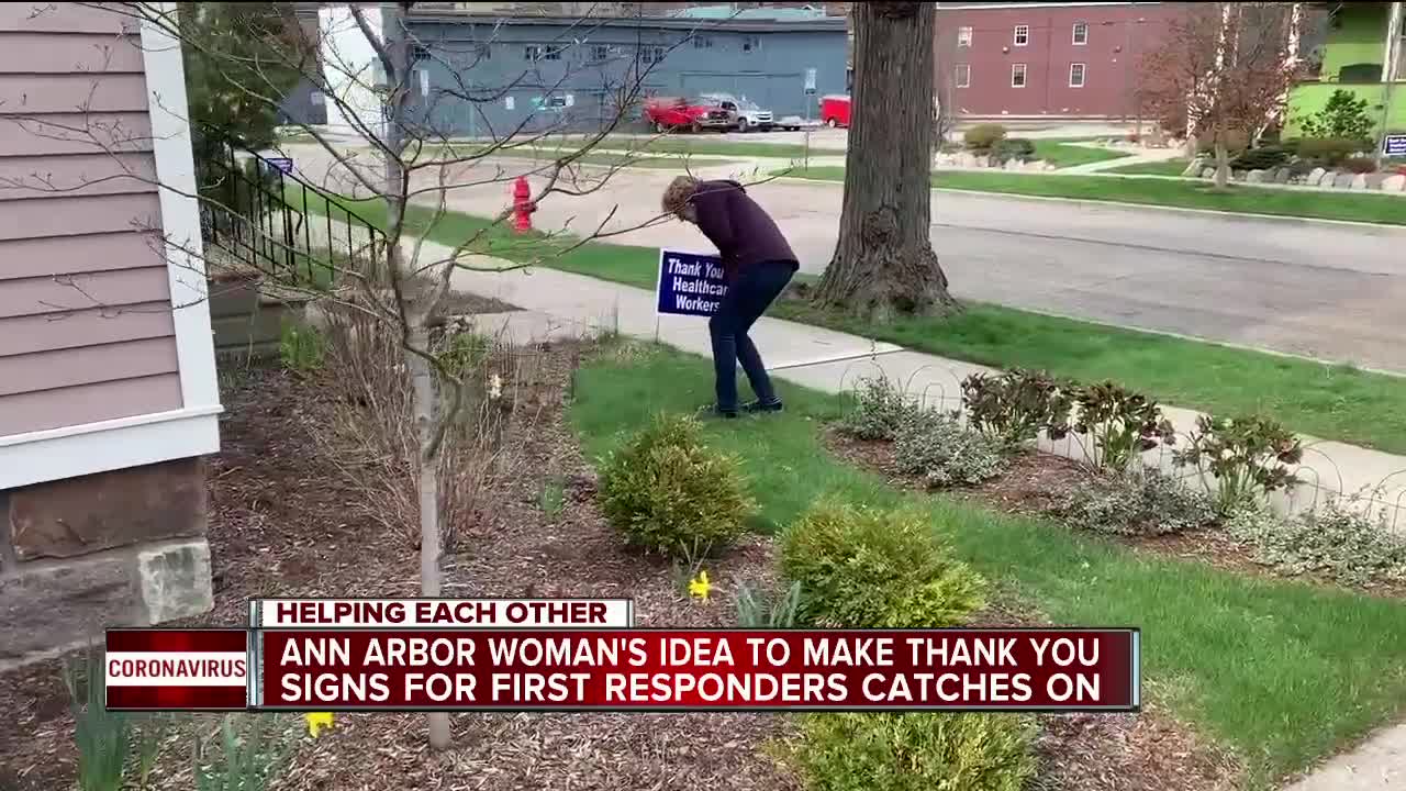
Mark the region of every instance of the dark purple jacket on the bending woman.
POLYGON ((697 227, 723 256, 727 281, 748 267, 768 260, 799 265, 776 221, 737 182, 700 182, 689 198, 697 211, 697 227))

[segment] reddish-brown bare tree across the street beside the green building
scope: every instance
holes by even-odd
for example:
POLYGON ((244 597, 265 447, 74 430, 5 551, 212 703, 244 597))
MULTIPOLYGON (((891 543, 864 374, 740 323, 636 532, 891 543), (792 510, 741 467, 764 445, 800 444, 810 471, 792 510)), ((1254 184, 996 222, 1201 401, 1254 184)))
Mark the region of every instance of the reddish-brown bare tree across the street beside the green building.
POLYGON ((1143 65, 1147 104, 1163 117, 1185 108, 1188 145, 1212 144, 1216 189, 1230 180, 1230 146, 1282 111, 1298 69, 1292 15, 1294 3, 1195 4, 1143 65))

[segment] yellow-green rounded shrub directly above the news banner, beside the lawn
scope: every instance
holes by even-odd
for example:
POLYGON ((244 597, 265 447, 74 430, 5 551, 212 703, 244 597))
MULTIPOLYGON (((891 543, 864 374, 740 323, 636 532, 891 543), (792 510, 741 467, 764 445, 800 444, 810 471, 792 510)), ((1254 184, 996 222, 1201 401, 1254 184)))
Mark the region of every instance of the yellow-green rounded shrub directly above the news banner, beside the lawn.
POLYGON ((823 501, 782 533, 782 573, 800 583, 800 619, 824 628, 952 626, 983 604, 981 577, 918 510, 823 501))

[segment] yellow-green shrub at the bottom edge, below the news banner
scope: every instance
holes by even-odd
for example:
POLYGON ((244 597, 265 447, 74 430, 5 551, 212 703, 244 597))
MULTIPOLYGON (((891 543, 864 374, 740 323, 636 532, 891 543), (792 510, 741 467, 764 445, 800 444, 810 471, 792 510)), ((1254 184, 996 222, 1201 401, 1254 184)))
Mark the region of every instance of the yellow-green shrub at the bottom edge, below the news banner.
POLYGON ((792 759, 810 791, 1019 791, 1033 736, 1021 716, 813 714, 792 759))

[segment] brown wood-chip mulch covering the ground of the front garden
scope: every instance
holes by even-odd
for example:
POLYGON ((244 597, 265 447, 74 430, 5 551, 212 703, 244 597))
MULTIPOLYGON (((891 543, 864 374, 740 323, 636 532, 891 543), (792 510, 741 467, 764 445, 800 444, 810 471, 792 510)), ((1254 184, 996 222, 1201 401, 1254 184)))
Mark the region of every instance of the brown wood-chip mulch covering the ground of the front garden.
MULTIPOLYGON (((772 543, 747 539, 711 562, 710 601, 681 595, 669 564, 626 550, 605 524, 593 470, 564 422, 571 372, 589 349, 568 343, 538 352, 531 401, 546 408, 527 431, 515 432, 478 518, 457 525, 446 594, 624 595, 636 600, 644 626, 734 625, 738 581, 776 587, 772 543), (565 505, 550 512, 543 490, 555 484, 565 505)), ((361 515, 363 493, 319 457, 309 426, 328 419, 329 388, 276 369, 253 369, 229 384, 222 452, 209 466, 215 609, 187 625, 242 624, 245 601, 257 595, 415 595, 416 549, 361 515)), ((886 466, 879 446, 832 445, 870 469, 886 466)), ((1022 469, 1007 476, 1010 488, 973 495, 1036 508, 1035 487, 1022 491, 1015 480, 1050 486, 1073 474, 1054 464, 1022 469)), ((1043 622, 1001 595, 977 621, 1043 622)), ((13 725, 0 729, 0 788, 52 791, 73 783, 73 723, 59 667, 39 663, 0 676, 0 711, 13 725)), ((191 722, 208 730, 217 719, 191 722)), ((291 733, 290 766, 273 788, 290 791, 797 788, 763 749, 792 732, 794 718, 785 715, 465 714, 453 718, 453 747, 437 754, 427 749, 423 715, 339 715, 316 740, 298 733, 301 719, 280 722, 291 733)), ((1038 790, 1209 791, 1233 787, 1237 776, 1227 756, 1156 708, 1045 716, 1042 723, 1038 790)), ((190 788, 188 753, 187 729, 172 736, 152 787, 190 788)))

